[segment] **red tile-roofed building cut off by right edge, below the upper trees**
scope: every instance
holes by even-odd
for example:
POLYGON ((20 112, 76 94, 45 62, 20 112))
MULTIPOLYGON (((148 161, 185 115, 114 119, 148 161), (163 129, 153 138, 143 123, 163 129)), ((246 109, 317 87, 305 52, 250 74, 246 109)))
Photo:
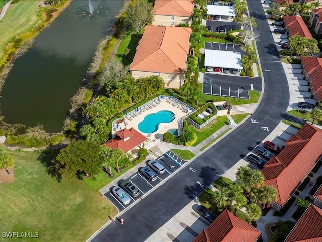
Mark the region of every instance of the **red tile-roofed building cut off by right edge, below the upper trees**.
MULTIPOLYGON (((310 82, 313 98, 322 100, 322 58, 301 57, 304 77, 310 82)), ((314 103, 315 104, 315 103, 314 103)))

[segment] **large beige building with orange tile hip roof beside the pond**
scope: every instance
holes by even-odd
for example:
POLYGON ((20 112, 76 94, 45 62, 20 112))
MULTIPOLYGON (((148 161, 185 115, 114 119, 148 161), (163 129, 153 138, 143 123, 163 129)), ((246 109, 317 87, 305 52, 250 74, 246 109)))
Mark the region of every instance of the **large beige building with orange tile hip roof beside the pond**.
POLYGON ((180 88, 184 84, 191 28, 146 26, 136 48, 131 74, 135 78, 156 75, 166 88, 180 88))

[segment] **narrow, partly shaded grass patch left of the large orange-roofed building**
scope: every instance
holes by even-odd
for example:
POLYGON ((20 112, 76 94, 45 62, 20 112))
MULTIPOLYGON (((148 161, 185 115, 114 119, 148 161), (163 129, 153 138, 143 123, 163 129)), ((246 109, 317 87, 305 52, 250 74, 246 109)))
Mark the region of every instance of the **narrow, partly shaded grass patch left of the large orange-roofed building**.
POLYGON ((125 32, 115 56, 118 61, 122 62, 124 65, 129 65, 132 63, 136 53, 136 47, 143 36, 143 32, 144 29, 142 29, 138 35, 130 31, 125 32), (126 48, 129 48, 130 52, 125 56, 124 52, 126 48))

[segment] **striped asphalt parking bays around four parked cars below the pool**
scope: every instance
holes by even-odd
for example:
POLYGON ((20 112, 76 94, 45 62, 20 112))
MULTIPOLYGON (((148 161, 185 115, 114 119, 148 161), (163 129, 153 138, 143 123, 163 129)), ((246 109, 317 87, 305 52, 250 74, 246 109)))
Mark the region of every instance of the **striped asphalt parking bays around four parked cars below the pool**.
MULTIPOLYGON (((133 198, 128 194, 131 198, 131 202, 128 205, 122 204, 114 196, 114 194, 112 193, 112 189, 114 188, 114 186, 110 188, 109 192, 104 194, 104 196, 106 196, 118 208, 119 212, 128 207, 133 206, 136 201, 141 200, 142 197, 145 194, 147 194, 151 189, 153 189, 158 184, 162 183, 164 179, 172 175, 176 170, 178 170, 182 165, 186 163, 186 161, 182 160, 180 157, 178 157, 171 151, 168 151, 164 155, 160 156, 157 159, 157 161, 165 167, 166 171, 163 174, 157 174, 157 179, 155 181, 151 182, 147 180, 139 171, 137 171, 135 174, 126 179, 127 181, 135 185, 140 191, 140 195, 136 198, 133 198)), ((143 166, 144 164, 142 164, 141 167, 143 166)), ((117 184, 119 185, 122 181, 123 180, 117 181, 117 184)))

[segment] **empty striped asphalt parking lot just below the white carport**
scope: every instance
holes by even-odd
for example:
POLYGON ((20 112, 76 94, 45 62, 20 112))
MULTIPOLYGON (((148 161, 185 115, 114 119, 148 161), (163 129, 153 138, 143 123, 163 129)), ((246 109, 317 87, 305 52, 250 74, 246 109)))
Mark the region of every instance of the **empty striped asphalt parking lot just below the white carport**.
POLYGON ((251 89, 257 91, 262 90, 260 77, 248 78, 213 73, 205 73, 204 75, 203 94, 249 98, 248 90, 251 89))

